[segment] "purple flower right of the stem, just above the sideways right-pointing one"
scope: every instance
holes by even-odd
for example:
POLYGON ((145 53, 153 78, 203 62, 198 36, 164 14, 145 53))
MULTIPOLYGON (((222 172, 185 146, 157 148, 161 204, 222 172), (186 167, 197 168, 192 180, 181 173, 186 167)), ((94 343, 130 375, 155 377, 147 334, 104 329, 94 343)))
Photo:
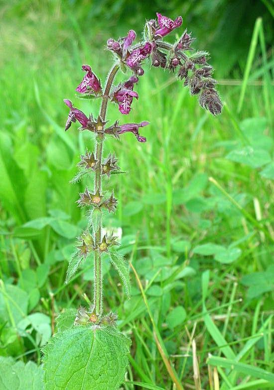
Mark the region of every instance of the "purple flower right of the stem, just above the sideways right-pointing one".
POLYGON ((137 92, 133 91, 134 84, 137 83, 137 81, 137 77, 132 76, 113 95, 114 100, 116 100, 119 104, 119 111, 122 114, 129 114, 133 98, 138 98, 137 92))

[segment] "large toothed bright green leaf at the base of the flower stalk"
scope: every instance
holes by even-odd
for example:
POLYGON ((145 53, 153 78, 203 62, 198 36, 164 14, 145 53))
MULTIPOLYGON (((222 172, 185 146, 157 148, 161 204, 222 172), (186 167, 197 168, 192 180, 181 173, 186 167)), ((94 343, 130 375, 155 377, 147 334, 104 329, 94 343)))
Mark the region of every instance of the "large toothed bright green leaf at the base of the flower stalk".
POLYGON ((118 330, 77 326, 57 332, 44 348, 46 390, 118 390, 130 339, 118 330))

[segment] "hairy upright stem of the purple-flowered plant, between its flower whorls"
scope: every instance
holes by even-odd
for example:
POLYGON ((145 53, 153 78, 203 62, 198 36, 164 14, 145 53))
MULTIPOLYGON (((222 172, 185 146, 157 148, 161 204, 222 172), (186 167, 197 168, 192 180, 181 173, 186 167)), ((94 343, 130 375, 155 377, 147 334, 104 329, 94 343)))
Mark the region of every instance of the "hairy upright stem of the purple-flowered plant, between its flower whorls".
MULTIPOLYGON (((108 76, 105 92, 102 99, 100 117, 102 121, 105 121, 107 105, 109 99, 109 93, 111 90, 112 83, 114 81, 115 75, 119 69, 119 65, 115 64, 108 76)), ((99 130, 99 129, 98 129, 99 130)), ((100 194, 102 192, 102 151, 103 151, 103 141, 104 134, 99 133, 96 138, 96 160, 98 160, 98 167, 95 171, 95 192, 99 190, 100 194)), ((95 246, 98 247, 101 242, 101 231, 102 231, 102 219, 100 217, 99 226, 95 232, 95 246)), ((99 250, 95 251, 94 257, 94 306, 95 312, 97 315, 102 314, 103 312, 103 275, 102 275, 102 264, 101 264, 101 253, 99 250)))

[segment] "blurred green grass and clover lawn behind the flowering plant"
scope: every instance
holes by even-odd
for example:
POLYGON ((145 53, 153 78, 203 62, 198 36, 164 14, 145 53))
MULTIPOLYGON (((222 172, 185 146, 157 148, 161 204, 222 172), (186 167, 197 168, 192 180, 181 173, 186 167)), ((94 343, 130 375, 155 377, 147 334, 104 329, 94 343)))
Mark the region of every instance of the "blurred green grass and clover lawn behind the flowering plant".
MULTIPOLYGON (((0 43, 0 355, 37 364, 57 313, 88 305, 93 291, 88 262, 64 286, 84 223, 75 201, 85 183, 69 181, 93 140, 74 125, 64 132, 62 99, 96 114, 97 101, 74 97, 80 67, 90 63, 103 80, 111 61, 99 51, 109 37, 100 24, 86 33, 72 14, 51 11, 4 21, 0 43), (40 316, 30 321, 33 313, 40 316)), ((106 142, 105 155, 115 150, 128 173, 104 182, 119 199, 105 225, 123 229, 120 251, 136 271, 127 300, 104 264, 105 309, 118 312, 133 340, 126 390, 199 389, 194 361, 201 389, 218 389, 217 376, 222 390, 274 387, 273 57, 261 19, 254 31, 246 71, 234 71, 243 85, 219 86, 222 115, 211 117, 170 74, 146 67, 140 98, 120 120, 150 121, 147 142, 131 134, 106 142)), ((110 123, 117 117, 111 105, 110 123)))

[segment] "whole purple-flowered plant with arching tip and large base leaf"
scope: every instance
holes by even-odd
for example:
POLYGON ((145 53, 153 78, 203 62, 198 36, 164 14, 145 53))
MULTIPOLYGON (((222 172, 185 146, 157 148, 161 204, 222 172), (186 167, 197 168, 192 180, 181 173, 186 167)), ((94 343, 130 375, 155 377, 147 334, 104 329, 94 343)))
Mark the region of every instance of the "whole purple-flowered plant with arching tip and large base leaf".
MULTIPOLYGON (((136 43, 133 30, 118 40, 109 39, 107 49, 114 54, 114 64, 102 88, 100 79, 89 65, 83 65, 85 76, 76 91, 82 98, 101 99, 98 116, 87 116, 65 99, 69 115, 65 129, 78 121, 80 131, 87 130, 95 135, 95 150, 81 155, 79 172, 73 179, 77 182, 90 175, 93 187, 86 188, 77 201, 80 207, 87 207, 88 227, 78 238, 79 242, 69 263, 66 282, 75 274, 87 257, 94 259, 94 296, 89 308, 70 309, 57 318, 57 333, 51 338, 43 353, 44 382, 47 390, 117 390, 124 382, 128 366, 131 341, 117 326, 117 316, 103 310, 102 261, 109 256, 117 270, 128 296, 131 286, 129 266, 123 256, 115 250, 119 245, 113 234, 102 234, 102 216, 106 211, 114 212, 117 199, 112 191, 110 196, 103 192, 104 179, 119 173, 120 168, 115 154, 103 158, 103 143, 106 137, 119 139, 126 132, 132 132, 139 142, 145 142, 143 127, 149 122, 125 123, 116 121, 107 125, 107 106, 109 102, 118 104, 119 111, 127 115, 137 100, 135 90, 139 78, 143 76, 142 64, 149 61, 152 67, 169 70, 183 80, 191 95, 199 95, 199 103, 213 115, 222 110, 222 103, 212 78, 213 68, 208 65, 208 53, 195 51, 191 47, 194 38, 185 30, 173 44, 163 37, 182 24, 181 16, 174 21, 157 13, 157 19, 145 23, 143 40, 136 43), (114 85, 117 72, 129 73, 127 80, 114 85)), ((145 118, 145 119, 153 119, 145 118)))

